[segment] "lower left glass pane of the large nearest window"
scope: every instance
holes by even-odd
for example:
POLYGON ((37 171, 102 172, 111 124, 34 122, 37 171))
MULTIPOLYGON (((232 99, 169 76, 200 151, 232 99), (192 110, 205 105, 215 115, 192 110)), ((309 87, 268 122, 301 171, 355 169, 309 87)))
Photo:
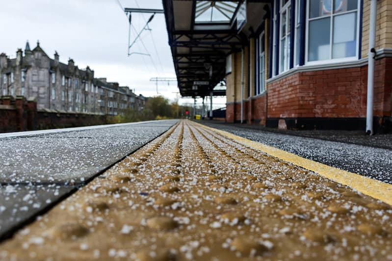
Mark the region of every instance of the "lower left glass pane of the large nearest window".
POLYGON ((329 17, 309 21, 308 60, 329 59, 331 19, 329 17))

